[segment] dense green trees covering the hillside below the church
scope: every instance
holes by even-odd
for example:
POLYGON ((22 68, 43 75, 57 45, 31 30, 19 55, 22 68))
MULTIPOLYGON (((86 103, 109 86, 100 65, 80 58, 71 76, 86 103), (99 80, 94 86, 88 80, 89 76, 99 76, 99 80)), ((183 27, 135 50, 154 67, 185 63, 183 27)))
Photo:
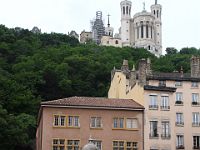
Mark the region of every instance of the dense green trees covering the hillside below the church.
POLYGON ((130 68, 150 58, 155 71, 189 71, 195 48, 156 58, 144 49, 81 45, 64 34, 34 34, 0 25, 0 149, 34 149, 41 101, 69 96, 107 96, 110 71, 123 59, 130 68))

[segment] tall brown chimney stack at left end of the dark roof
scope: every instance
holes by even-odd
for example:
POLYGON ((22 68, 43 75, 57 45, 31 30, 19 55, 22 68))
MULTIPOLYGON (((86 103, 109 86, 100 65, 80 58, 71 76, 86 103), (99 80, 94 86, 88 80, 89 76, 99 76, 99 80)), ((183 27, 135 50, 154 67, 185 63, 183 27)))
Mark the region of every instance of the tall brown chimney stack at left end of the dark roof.
POLYGON ((145 59, 139 60, 138 67, 138 80, 141 86, 146 84, 146 69, 147 69, 147 61, 145 59))

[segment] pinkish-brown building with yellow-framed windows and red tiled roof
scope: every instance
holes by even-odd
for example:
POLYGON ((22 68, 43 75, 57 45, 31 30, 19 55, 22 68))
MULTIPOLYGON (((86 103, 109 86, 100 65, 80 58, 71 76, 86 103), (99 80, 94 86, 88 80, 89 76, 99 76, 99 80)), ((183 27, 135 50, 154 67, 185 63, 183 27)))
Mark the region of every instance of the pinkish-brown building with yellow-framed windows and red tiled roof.
POLYGON ((144 107, 132 99, 70 97, 42 102, 37 150, 143 150, 144 107))

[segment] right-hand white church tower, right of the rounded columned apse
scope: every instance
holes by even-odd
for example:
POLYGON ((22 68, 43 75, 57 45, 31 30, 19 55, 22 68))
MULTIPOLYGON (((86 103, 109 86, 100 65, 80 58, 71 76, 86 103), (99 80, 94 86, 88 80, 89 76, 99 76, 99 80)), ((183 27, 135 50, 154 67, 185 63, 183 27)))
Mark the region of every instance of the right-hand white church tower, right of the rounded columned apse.
POLYGON ((151 13, 155 17, 155 51, 158 54, 162 54, 162 6, 158 4, 157 0, 155 0, 155 4, 151 6, 151 13))

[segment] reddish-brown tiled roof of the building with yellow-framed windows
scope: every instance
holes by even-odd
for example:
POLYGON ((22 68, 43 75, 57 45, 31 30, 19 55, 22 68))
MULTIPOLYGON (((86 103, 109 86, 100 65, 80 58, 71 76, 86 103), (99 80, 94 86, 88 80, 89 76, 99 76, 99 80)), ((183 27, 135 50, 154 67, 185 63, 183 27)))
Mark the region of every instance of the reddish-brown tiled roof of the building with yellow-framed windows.
POLYGON ((144 109, 132 99, 108 99, 100 97, 69 97, 41 103, 42 106, 68 106, 107 109, 144 109))

